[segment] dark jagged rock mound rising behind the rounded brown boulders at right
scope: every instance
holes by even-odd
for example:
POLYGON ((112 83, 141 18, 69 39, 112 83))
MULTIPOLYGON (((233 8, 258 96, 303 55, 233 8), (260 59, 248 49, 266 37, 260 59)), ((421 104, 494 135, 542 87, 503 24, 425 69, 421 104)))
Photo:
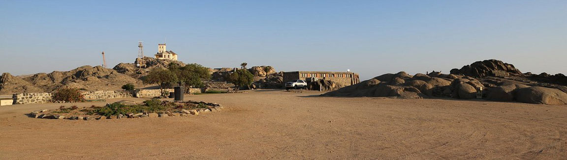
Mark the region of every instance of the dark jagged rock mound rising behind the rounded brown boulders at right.
POLYGON ((487 76, 505 77, 510 75, 522 75, 522 72, 516 69, 513 64, 490 59, 477 61, 471 65, 463 66, 460 69, 454 68, 451 70, 451 74, 480 78, 487 76))

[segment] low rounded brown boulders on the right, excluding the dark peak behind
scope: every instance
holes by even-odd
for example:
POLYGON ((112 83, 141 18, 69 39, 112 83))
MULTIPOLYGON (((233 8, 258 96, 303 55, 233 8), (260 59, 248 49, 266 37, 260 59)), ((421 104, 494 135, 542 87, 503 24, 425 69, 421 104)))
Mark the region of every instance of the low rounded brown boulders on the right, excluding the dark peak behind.
MULTIPOLYGON (((567 87, 551 86, 530 87, 514 80, 475 79, 471 76, 445 75, 432 72, 429 75, 417 73, 408 75, 405 72, 386 73, 373 79, 362 81, 338 90, 327 92, 322 96, 338 97, 397 97, 397 98, 431 98, 452 97, 458 99, 475 99, 481 96, 490 101, 518 101, 523 103, 564 105, 567 104, 567 87), (490 85, 485 88, 485 85, 490 85), (482 94, 479 94, 483 88, 482 94)), ((530 84, 540 85, 540 84, 530 84)))

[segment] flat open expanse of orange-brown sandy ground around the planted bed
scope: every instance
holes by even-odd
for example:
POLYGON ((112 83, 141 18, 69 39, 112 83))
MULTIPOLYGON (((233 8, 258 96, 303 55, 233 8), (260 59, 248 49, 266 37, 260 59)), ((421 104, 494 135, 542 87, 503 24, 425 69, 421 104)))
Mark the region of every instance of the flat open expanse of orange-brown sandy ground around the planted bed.
POLYGON ((567 106, 318 94, 194 95, 227 108, 90 121, 24 115, 57 103, 2 106, 0 159, 567 159, 567 106))

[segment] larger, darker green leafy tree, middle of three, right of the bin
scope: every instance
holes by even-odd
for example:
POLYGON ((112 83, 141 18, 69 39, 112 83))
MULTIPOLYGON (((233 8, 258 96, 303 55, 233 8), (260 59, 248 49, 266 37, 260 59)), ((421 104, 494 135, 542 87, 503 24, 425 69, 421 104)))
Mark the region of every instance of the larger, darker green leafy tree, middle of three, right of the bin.
POLYGON ((183 84, 185 93, 188 93, 191 87, 204 87, 205 85, 203 84, 202 80, 208 80, 211 77, 209 68, 203 67, 201 66, 201 64, 197 63, 187 64, 183 67, 179 67, 174 71, 174 73, 177 75, 177 82, 180 85, 183 84))

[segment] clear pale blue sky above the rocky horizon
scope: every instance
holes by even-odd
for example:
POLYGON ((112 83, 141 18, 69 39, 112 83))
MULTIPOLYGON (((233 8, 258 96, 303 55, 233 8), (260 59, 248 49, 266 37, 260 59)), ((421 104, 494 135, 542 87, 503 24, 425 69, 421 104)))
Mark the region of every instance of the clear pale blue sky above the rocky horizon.
POLYGON ((278 71, 448 72, 500 59, 567 73, 567 1, 6 1, 0 72, 133 63, 158 43, 185 63, 278 71))

